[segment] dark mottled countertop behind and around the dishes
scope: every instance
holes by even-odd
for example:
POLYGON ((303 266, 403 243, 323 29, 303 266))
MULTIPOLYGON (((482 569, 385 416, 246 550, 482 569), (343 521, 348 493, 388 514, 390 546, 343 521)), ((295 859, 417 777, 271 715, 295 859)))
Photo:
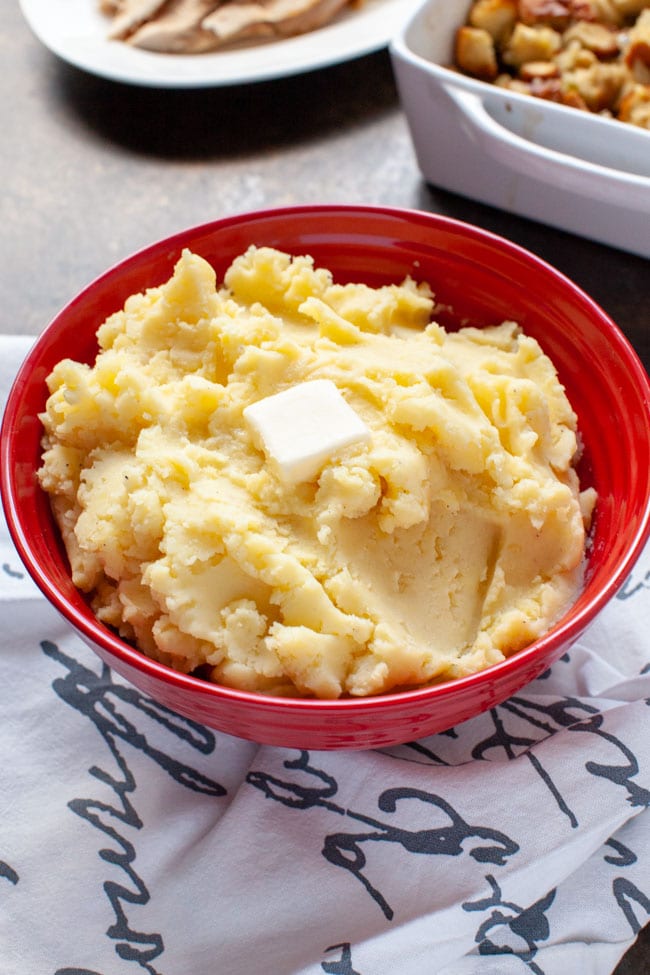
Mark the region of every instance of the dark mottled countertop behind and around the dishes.
MULTIPOLYGON (((602 305, 650 368, 650 262, 427 186, 386 51, 253 85, 139 88, 58 61, 11 2, 0 64, 0 334, 38 334, 108 266, 184 227, 367 203, 447 214, 527 247, 602 305)), ((616 975, 648 972, 646 927, 616 975)))

